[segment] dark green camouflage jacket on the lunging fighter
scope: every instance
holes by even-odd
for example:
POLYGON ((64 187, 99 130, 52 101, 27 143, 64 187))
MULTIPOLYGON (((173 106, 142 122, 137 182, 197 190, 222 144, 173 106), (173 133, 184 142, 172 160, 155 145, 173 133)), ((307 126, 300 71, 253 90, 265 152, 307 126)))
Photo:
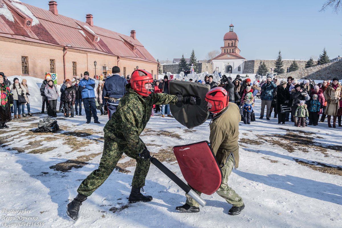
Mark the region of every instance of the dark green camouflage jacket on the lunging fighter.
POLYGON ((104 127, 104 136, 124 146, 125 150, 141 153, 145 147, 139 136, 151 117, 154 104, 176 104, 177 97, 152 93, 142 97, 126 85, 127 93, 120 99, 116 112, 104 127))

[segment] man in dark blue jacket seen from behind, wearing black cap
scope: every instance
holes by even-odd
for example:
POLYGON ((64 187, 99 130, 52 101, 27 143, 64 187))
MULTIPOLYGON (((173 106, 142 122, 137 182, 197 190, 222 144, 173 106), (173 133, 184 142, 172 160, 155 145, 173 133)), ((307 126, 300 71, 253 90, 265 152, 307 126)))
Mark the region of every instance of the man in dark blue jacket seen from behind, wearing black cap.
POLYGON ((127 80, 120 77, 120 68, 118 66, 114 66, 111 72, 113 75, 106 79, 102 91, 102 100, 107 101, 109 119, 116 112, 121 97, 126 94, 125 85, 127 84, 127 80))

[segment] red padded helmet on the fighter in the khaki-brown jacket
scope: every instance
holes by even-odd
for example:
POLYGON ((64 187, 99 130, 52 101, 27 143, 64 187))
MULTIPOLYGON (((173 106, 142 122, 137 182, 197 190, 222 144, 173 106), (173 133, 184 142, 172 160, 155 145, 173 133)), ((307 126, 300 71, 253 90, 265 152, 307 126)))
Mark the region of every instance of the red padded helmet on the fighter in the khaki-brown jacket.
POLYGON ((208 111, 218 113, 228 106, 229 94, 222 87, 215 87, 206 94, 208 111))

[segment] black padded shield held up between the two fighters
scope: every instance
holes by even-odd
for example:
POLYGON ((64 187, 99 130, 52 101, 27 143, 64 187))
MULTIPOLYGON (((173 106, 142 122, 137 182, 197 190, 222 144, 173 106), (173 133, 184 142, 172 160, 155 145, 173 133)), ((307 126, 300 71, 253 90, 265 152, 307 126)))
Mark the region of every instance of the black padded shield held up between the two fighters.
POLYGON ((207 84, 171 80, 169 82, 170 94, 176 95, 177 92, 181 92, 183 97, 197 96, 200 97, 201 100, 199 105, 182 104, 181 107, 177 107, 177 105, 170 105, 170 110, 173 117, 189 129, 195 128, 206 122, 209 112, 205 106, 206 101, 204 98, 209 90, 210 86, 207 84))

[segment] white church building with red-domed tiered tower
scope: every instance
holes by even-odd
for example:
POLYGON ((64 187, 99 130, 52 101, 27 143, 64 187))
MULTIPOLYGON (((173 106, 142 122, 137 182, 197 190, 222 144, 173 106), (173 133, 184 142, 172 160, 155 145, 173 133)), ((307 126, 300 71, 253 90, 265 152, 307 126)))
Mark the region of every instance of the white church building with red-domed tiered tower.
POLYGON ((239 38, 234 32, 234 25, 229 25, 229 32, 224 37, 224 46, 221 47, 221 54, 212 59, 213 69, 223 74, 242 73, 246 59, 240 54, 238 48, 239 38))

